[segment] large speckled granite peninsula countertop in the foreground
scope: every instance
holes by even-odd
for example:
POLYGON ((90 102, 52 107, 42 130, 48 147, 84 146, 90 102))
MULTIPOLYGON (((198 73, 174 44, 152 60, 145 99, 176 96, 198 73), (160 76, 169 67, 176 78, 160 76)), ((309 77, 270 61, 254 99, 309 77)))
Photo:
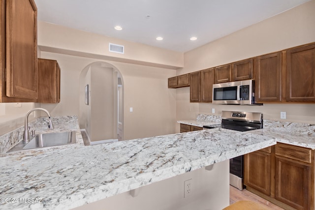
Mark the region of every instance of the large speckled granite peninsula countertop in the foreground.
POLYGON ((215 128, 0 154, 0 197, 41 199, 0 209, 71 209, 275 144, 263 135, 215 128))

